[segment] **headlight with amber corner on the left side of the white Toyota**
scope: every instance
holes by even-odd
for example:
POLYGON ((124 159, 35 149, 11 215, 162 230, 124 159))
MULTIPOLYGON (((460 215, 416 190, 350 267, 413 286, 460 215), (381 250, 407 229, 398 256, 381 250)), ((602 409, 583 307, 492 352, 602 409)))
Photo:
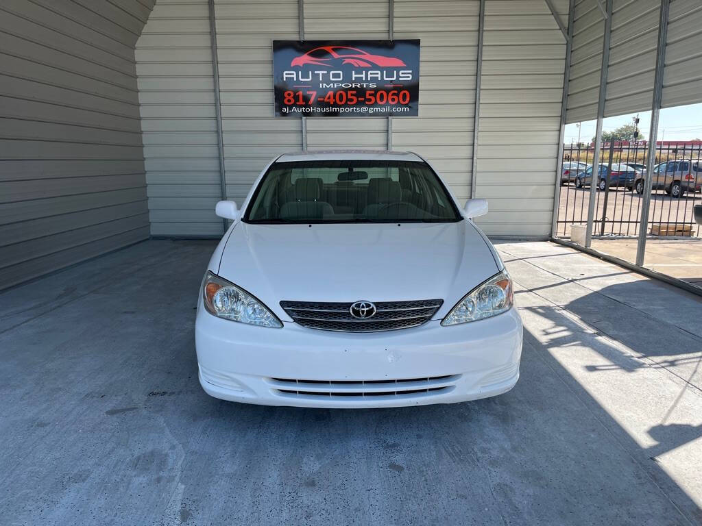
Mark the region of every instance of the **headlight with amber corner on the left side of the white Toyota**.
POLYGON ((205 309, 220 318, 262 327, 283 326, 275 314, 249 292, 210 271, 205 275, 202 299, 205 309))

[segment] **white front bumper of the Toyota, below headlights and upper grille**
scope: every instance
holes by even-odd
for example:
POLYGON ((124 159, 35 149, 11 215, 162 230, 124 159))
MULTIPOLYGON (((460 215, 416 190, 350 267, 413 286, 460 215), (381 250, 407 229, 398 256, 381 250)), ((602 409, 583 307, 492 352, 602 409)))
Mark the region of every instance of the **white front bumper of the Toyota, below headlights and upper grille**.
POLYGON ((353 333, 262 328, 198 309, 199 379, 211 396, 299 407, 398 407, 486 398, 519 378, 522 321, 353 333))

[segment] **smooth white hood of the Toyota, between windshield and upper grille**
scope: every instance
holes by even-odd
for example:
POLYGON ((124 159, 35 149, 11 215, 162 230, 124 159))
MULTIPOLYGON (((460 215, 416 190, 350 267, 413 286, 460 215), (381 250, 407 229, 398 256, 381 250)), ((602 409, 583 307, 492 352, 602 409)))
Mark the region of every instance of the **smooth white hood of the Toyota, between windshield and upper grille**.
POLYGON ((440 298, 439 318, 498 270, 486 241, 465 220, 401 226, 239 222, 218 274, 291 321, 279 302, 440 298))

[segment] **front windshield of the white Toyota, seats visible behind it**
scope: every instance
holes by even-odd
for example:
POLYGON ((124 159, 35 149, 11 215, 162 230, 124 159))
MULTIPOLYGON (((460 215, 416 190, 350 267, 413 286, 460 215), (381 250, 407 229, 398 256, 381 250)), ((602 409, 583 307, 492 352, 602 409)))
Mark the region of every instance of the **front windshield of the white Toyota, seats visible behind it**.
POLYGON ((244 216, 262 224, 460 220, 426 163, 369 160, 274 163, 244 216))

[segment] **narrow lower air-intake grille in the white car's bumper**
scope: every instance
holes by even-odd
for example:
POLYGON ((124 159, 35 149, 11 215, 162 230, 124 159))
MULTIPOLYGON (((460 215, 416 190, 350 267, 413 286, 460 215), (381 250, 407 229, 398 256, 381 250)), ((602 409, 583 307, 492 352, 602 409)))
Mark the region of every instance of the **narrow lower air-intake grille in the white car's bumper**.
POLYGON ((383 380, 300 380, 271 378, 275 391, 282 396, 324 397, 406 397, 427 396, 453 389, 453 383, 461 375, 445 375, 424 378, 383 380))

